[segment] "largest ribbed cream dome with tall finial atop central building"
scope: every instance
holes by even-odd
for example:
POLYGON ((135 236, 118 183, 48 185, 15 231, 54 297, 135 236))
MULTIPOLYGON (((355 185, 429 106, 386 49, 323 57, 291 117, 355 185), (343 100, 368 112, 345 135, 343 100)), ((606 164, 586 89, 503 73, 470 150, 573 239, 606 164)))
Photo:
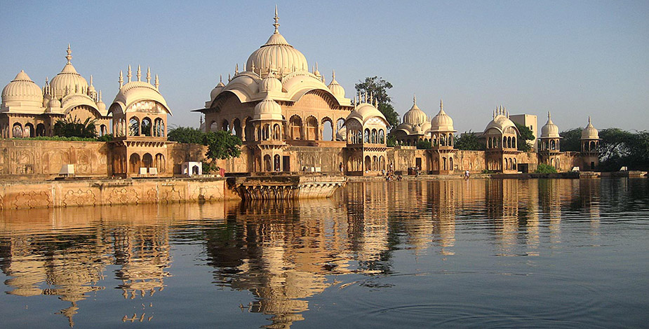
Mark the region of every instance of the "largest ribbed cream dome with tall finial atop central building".
POLYGON ((279 34, 279 17, 275 8, 275 32, 268 41, 255 50, 246 62, 248 71, 254 71, 260 76, 266 76, 268 71, 276 70, 280 76, 286 76, 294 71, 309 71, 307 57, 300 50, 293 48, 286 39, 279 34))

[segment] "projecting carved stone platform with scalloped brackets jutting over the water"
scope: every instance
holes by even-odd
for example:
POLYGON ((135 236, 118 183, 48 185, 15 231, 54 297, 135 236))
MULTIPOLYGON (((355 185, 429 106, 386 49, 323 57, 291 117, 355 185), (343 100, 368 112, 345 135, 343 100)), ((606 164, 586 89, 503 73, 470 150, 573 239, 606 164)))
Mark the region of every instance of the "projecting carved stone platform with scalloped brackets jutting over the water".
POLYGON ((249 176, 232 178, 229 185, 243 200, 290 200, 331 197, 345 181, 344 176, 249 176))

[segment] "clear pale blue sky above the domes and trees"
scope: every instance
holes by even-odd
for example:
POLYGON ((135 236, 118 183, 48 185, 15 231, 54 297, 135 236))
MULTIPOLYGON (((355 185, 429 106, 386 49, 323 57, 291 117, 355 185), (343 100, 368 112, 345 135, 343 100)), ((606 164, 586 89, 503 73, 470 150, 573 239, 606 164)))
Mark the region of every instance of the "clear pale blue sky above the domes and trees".
MULTIPOLYGON (((330 80, 382 76, 403 114, 439 99, 459 132, 481 131, 495 106, 552 112, 560 130, 649 129, 649 1, 6 1, 0 82, 24 69, 39 85, 72 64, 109 106, 119 70, 160 77, 171 125, 198 126, 218 77, 279 31, 330 80)), ((135 75, 135 73, 133 73, 135 75)))

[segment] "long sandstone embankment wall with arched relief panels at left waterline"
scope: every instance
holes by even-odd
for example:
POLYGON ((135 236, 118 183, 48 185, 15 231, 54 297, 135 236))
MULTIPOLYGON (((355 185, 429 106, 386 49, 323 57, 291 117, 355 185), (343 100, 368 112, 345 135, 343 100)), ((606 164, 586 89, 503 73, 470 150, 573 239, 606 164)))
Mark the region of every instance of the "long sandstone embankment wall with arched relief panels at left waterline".
POLYGON ((84 179, 1 182, 0 210, 239 200, 226 179, 84 179))

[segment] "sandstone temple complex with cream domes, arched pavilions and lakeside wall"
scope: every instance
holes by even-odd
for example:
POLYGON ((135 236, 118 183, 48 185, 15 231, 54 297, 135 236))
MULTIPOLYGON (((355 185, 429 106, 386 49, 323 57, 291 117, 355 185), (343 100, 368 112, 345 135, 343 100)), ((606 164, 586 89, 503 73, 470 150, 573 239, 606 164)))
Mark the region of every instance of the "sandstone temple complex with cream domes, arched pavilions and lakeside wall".
MULTIPOLYGON (((201 109, 201 130, 227 130, 243 141, 239 158, 220 160, 227 172, 321 172, 379 176, 389 170, 424 174, 460 172, 533 172, 539 163, 560 172, 573 167, 594 171, 598 167, 597 130, 588 125, 582 133, 580 152, 561 151, 558 127, 548 113, 537 136, 536 116, 510 116, 497 106, 492 120, 478 137, 484 151, 455 148, 453 119, 439 104, 432 118, 413 97, 402 122, 390 127, 377 109, 372 94, 346 95, 335 71, 327 79, 279 32, 275 11, 274 30, 266 43, 254 50, 227 81, 222 79, 201 109), (533 151, 518 151, 521 138, 516 124, 535 134, 533 151), (387 146, 393 137, 395 146, 387 146), (419 141, 429 149, 417 149, 419 141)), ((93 76, 83 78, 72 65, 68 45, 62 71, 39 87, 20 71, 1 94, 0 178, 48 178, 62 165, 75 165, 77 174, 89 177, 174 176, 182 163, 201 161, 205 148, 167 139, 166 100, 159 78, 150 69, 142 76, 138 66, 119 72, 119 90, 107 106, 102 91, 95 90, 93 76), (94 120, 98 134, 112 134, 112 141, 41 141, 28 137, 52 137, 58 120, 94 120)), ((201 103, 202 104, 202 103, 201 103)))

